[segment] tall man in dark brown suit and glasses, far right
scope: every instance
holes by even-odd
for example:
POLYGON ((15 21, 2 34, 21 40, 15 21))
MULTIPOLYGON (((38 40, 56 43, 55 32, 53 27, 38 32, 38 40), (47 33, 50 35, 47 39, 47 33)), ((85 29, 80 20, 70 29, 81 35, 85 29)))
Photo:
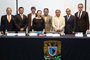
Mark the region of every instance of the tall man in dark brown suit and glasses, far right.
POLYGON ((89 17, 86 11, 83 11, 83 4, 78 4, 78 12, 75 13, 76 16, 76 32, 89 32, 89 17))

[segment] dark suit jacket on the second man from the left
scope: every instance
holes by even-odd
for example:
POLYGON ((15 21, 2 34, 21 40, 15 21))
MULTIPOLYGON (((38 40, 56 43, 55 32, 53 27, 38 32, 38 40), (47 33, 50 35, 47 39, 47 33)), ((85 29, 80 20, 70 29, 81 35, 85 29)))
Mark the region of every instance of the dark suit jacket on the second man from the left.
POLYGON ((17 14, 15 15, 14 24, 16 26, 16 30, 20 31, 21 28, 24 28, 25 30, 28 25, 28 19, 25 15, 23 15, 23 20, 22 20, 20 14, 17 14))

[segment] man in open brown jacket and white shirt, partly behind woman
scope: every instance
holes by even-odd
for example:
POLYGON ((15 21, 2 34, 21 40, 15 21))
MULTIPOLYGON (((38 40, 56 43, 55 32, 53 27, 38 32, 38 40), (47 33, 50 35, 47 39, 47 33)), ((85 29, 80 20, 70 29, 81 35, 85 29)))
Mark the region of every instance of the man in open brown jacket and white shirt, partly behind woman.
POLYGON ((32 31, 32 22, 33 19, 36 17, 36 8, 35 7, 31 7, 31 13, 28 14, 28 31, 32 31))

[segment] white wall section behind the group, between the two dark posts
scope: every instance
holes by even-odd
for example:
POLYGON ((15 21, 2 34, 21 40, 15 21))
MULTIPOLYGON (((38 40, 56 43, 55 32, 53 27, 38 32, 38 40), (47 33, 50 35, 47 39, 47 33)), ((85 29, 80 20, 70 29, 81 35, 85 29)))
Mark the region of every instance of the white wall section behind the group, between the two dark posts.
POLYGON ((83 3, 85 5, 85 0, 18 0, 19 7, 22 6, 25 9, 24 14, 30 13, 30 8, 35 6, 37 10, 42 10, 44 8, 49 8, 49 15, 55 16, 55 10, 60 9, 61 15, 66 15, 66 8, 72 10, 72 14, 78 11, 77 5, 83 3))

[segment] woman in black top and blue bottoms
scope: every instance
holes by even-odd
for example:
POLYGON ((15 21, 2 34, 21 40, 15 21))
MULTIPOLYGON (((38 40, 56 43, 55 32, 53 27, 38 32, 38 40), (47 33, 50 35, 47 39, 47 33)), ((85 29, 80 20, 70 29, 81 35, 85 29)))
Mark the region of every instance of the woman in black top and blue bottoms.
POLYGON ((32 32, 37 32, 38 34, 44 34, 45 32, 45 22, 44 19, 41 17, 42 11, 37 11, 37 17, 33 19, 32 24, 32 32))

